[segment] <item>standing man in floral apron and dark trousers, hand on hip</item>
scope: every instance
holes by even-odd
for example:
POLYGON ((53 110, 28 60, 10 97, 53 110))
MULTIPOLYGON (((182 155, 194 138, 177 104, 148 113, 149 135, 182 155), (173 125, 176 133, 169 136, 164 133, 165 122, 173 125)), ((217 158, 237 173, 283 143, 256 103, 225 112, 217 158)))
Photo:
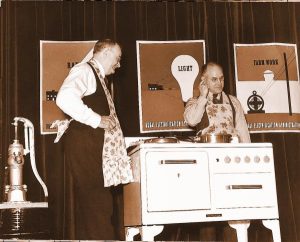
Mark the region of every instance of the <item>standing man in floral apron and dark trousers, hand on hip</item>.
POLYGON ((56 141, 66 131, 65 161, 75 185, 75 238, 70 239, 116 239, 109 187, 132 181, 130 158, 105 78, 120 67, 121 54, 118 43, 98 41, 92 59, 71 69, 57 95, 57 105, 70 116, 56 123, 56 141))

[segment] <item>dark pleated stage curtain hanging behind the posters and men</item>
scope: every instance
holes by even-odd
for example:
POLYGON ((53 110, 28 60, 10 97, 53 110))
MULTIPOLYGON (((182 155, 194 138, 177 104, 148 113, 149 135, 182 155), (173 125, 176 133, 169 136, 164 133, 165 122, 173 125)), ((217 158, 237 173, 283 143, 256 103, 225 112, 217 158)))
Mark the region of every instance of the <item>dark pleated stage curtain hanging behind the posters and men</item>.
MULTIPOLYGON (((147 2, 147 1, 10 1, 1 11, 1 191, 7 148, 13 140, 15 116, 35 126, 39 173, 49 189, 51 239, 76 239, 72 196, 61 144, 40 135, 40 40, 114 38, 123 47, 122 67, 114 75, 116 107, 125 136, 139 136, 136 40, 204 39, 207 60, 224 66, 225 91, 235 94, 233 43, 284 42, 300 44, 300 3, 147 2)), ((299 47, 298 47, 299 52, 299 47)), ((297 133, 251 134, 252 142, 274 147, 276 182, 283 241, 300 239, 300 136, 297 133)), ((42 189, 26 161, 28 200, 43 201, 42 189)), ((122 188, 116 191, 120 240, 122 188)), ((4 192, 1 192, 1 200, 4 192)), ((272 241, 260 222, 249 228, 249 241, 272 241)), ((101 239, 101 238, 99 238, 101 239)), ((226 223, 169 225, 158 240, 236 241, 226 223)))

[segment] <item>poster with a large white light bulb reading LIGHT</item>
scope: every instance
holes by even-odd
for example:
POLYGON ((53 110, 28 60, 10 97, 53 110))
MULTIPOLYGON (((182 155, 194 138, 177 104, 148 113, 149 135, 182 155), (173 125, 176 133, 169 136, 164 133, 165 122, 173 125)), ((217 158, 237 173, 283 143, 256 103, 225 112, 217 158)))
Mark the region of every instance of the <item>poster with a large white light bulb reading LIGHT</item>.
POLYGON ((198 92, 204 40, 137 41, 136 48, 140 132, 191 131, 184 104, 198 92))

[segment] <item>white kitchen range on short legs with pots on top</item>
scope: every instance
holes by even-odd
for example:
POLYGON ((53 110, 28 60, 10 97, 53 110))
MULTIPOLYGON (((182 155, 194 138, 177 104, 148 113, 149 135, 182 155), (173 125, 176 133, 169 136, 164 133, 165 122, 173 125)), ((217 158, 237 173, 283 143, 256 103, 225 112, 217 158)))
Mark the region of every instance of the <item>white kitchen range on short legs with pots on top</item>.
POLYGON ((153 241, 165 224, 228 221, 239 242, 251 220, 281 241, 270 143, 137 142, 124 186, 126 240, 153 241))

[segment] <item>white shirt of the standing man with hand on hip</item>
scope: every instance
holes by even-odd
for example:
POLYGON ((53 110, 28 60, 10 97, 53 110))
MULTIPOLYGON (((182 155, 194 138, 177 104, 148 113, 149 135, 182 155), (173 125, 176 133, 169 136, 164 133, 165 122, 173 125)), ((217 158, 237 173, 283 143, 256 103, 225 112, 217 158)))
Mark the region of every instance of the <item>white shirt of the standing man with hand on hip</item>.
MULTIPOLYGON (((104 78, 105 72, 102 65, 97 61, 96 63, 104 78)), ((87 63, 79 63, 70 70, 64 80, 58 91, 56 104, 74 120, 97 128, 101 122, 101 116, 82 101, 84 96, 95 93, 96 88, 97 83, 91 67, 87 63)))

